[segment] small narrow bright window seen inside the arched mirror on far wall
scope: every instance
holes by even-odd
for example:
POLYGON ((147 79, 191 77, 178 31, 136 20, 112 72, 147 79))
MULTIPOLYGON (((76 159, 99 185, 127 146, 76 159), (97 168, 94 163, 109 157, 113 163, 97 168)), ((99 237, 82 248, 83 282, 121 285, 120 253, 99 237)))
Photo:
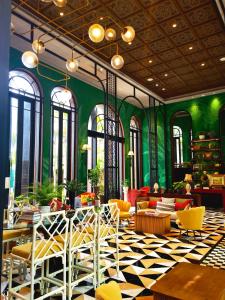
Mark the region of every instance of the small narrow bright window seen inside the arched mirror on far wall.
POLYGON ((179 167, 183 163, 183 134, 179 126, 173 126, 174 166, 179 167))

